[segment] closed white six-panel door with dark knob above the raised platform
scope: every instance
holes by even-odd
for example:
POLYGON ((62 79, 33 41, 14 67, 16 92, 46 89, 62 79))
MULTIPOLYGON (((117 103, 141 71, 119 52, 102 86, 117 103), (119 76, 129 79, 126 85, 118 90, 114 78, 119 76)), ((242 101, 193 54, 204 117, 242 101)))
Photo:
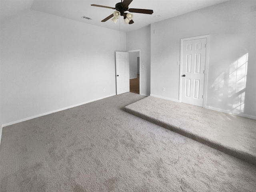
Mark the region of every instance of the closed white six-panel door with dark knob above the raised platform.
POLYGON ((206 38, 187 40, 182 49, 183 103, 203 106, 206 65, 206 38))

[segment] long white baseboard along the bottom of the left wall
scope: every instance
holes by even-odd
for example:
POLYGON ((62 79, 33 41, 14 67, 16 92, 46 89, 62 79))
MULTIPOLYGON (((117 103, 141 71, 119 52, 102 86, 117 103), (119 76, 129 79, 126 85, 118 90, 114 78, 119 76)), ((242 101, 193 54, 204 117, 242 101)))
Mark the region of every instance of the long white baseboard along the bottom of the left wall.
POLYGON ((27 120, 30 120, 30 119, 34 119, 34 118, 38 118, 38 117, 45 116, 45 115, 48 115, 48 114, 56 113, 56 112, 59 112, 59 111, 62 111, 62 110, 66 110, 66 109, 69 109, 69 108, 77 107, 77 106, 80 106, 80 105, 84 105, 86 103, 94 102, 94 101, 101 100, 101 99, 108 98, 108 97, 115 96, 115 95, 116 94, 111 94, 111 95, 104 96, 104 97, 101 97, 101 98, 97 98, 97 99, 93 99, 93 100, 90 100, 90 101, 86 101, 86 102, 83 102, 83 103, 80 103, 80 104, 64 107, 64 108, 61 108, 61 109, 53 110, 53 111, 46 112, 46 113, 41 113, 41 114, 38 114, 38 115, 35 115, 35 116, 31 116, 31 117, 28 117, 28 118, 24 118, 24 119, 20 119, 20 120, 17 120, 17 121, 9 122, 9 123, 3 124, 2 128, 5 127, 5 126, 13 125, 13 124, 20 123, 20 122, 23 122, 23 121, 27 121, 27 120))

